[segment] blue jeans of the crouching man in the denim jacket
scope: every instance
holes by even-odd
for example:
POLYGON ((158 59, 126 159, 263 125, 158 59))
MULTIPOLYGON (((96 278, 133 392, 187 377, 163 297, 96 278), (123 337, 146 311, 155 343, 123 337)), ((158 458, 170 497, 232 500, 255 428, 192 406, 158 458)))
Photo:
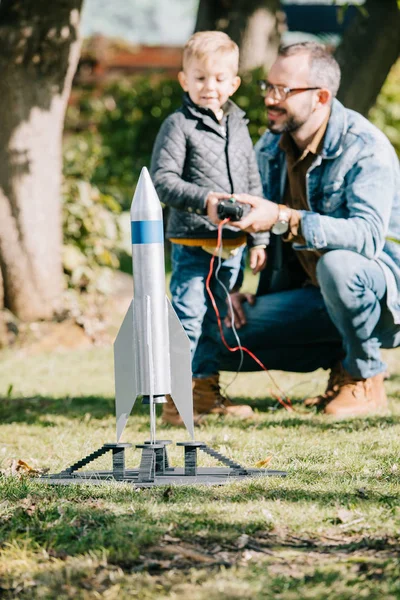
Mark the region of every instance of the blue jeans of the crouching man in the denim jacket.
MULTIPOLYGON (((355 252, 332 250, 318 261, 320 288, 257 297, 245 305, 247 324, 239 329, 243 346, 267 369, 314 371, 338 361, 354 377, 383 372, 380 348, 400 345, 400 326, 389 312, 386 281, 379 264, 355 252)), ((231 346, 232 331, 225 329, 231 346)), ((238 352, 222 350, 221 370, 236 371, 238 352)), ((243 371, 260 367, 245 354, 243 371)))

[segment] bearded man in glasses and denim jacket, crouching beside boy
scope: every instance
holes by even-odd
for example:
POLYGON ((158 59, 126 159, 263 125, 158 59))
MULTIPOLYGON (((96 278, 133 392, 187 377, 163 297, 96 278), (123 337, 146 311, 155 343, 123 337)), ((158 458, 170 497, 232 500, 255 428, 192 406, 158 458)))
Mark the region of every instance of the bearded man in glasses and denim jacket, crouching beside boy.
MULTIPOLYGON (((260 82, 264 199, 236 195, 252 207, 237 226, 271 241, 257 298, 232 301, 243 346, 270 369, 330 368, 308 404, 346 417, 387 406, 380 348, 400 344, 400 170, 383 133, 335 99, 339 83, 335 59, 311 42, 283 48, 260 82)), ((221 368, 238 362, 226 352, 221 368)), ((244 370, 257 369, 246 356, 244 370)))

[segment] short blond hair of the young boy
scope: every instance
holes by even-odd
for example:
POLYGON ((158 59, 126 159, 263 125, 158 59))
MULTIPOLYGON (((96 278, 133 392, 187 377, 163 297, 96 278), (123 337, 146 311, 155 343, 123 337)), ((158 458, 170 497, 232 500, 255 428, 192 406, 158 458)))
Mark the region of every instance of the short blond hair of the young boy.
POLYGON ((212 56, 226 57, 232 63, 235 74, 239 68, 239 48, 223 31, 198 31, 183 48, 183 70, 193 58, 203 60, 212 56))

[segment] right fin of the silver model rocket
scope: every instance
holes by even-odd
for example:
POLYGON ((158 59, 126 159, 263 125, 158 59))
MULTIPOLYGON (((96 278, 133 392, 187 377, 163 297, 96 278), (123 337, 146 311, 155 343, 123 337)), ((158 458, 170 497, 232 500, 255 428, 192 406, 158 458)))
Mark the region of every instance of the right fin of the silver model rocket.
POLYGON ((167 297, 166 300, 171 360, 171 396, 186 429, 194 439, 190 342, 171 302, 167 297))

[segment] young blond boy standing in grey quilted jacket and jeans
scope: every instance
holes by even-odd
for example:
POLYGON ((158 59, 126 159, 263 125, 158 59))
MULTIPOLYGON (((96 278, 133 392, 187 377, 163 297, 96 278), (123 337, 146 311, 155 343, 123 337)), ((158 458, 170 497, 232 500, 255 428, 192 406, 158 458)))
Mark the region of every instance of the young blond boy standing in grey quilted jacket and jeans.
MULTIPOLYGON (((261 181, 244 112, 231 100, 238 89, 239 49, 225 33, 195 33, 183 50, 179 82, 186 92, 183 106, 163 123, 155 141, 151 174, 161 202, 170 207, 167 238, 172 242, 172 305, 190 339, 195 417, 205 413, 251 417, 249 406, 232 405, 219 389, 217 320, 206 290, 210 253, 215 253, 218 193, 262 195, 261 181)), ((264 268, 268 234, 248 240, 253 273, 264 268)), ((246 237, 223 229, 223 260, 218 273, 232 289, 240 272, 246 237)), ((217 261, 215 261, 217 262, 217 261)), ((211 280, 221 318, 226 293, 211 280)), ((163 421, 181 425, 171 400, 163 421)))

